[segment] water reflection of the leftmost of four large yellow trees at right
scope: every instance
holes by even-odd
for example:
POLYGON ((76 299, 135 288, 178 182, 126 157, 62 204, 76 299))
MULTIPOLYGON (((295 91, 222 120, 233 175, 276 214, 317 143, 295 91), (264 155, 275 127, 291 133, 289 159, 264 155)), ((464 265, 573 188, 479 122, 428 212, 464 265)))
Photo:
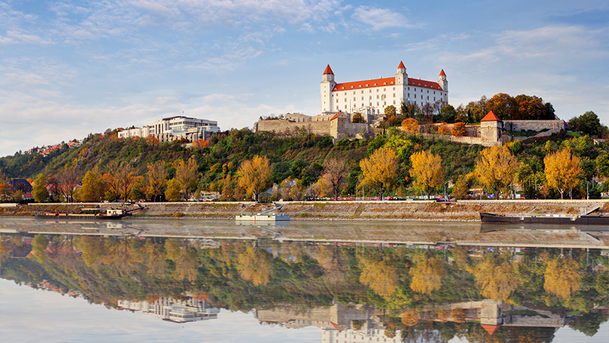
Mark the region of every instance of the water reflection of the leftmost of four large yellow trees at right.
POLYGON ((390 296, 398 287, 398 268, 389 257, 359 257, 359 282, 379 296, 390 296))

